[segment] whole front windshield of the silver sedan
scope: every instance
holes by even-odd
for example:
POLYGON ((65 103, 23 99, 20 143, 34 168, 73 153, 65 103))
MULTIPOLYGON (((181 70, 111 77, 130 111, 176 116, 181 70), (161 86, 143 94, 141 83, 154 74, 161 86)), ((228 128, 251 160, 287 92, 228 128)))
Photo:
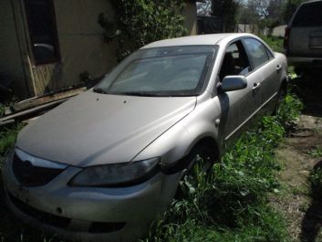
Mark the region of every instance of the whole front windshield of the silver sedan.
POLYGON ((125 59, 94 91, 134 96, 193 96, 203 84, 216 47, 154 47, 125 59))

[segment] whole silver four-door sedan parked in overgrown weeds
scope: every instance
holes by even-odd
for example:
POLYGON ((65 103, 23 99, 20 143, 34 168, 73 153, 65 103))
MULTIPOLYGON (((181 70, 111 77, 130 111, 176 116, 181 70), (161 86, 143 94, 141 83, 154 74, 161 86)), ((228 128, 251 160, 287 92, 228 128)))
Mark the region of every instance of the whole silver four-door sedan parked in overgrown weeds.
POLYGON ((286 57, 249 34, 151 43, 27 125, 3 167, 10 209, 83 241, 133 241, 182 177, 286 93, 286 57))

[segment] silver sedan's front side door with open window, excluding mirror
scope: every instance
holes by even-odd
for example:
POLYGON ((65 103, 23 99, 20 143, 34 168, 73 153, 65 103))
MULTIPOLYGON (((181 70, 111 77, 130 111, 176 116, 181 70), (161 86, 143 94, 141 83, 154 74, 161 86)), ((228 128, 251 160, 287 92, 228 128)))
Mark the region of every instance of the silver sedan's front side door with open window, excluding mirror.
MULTIPOLYGON (((257 88, 257 76, 252 72, 250 61, 241 40, 226 47, 222 66, 217 78, 218 86, 226 76, 240 75, 247 81, 245 89, 223 92, 218 89, 222 115, 219 126, 223 143, 230 143, 242 131, 260 104, 257 88)), ((222 143, 222 144, 223 144, 222 143)))

